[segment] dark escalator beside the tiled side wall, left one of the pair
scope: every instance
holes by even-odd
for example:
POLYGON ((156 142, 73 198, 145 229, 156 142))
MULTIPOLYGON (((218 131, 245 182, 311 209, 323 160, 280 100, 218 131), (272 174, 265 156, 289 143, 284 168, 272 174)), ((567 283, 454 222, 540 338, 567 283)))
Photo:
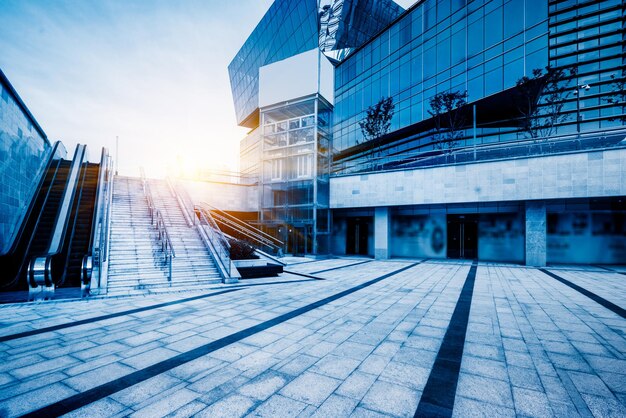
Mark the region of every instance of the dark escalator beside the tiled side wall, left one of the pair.
MULTIPOLYGON (((26 273, 33 256, 45 251, 59 209, 71 161, 61 159, 64 148, 56 143, 31 204, 10 250, 0 257, 0 292, 28 290, 26 273)), ((22 292, 23 293, 23 292, 22 292)), ((14 297, 9 297, 9 300, 14 297)), ((21 296, 19 296, 21 297, 21 296)), ((18 298, 19 298, 18 297, 18 298)), ((0 297, 0 300, 5 298, 0 297)))

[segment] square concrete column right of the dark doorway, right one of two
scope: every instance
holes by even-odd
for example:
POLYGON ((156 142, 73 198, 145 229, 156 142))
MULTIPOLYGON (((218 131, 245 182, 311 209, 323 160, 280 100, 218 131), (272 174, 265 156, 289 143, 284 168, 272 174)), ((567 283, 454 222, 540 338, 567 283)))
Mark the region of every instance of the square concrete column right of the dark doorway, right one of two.
POLYGON ((526 202, 526 265, 543 267, 546 265, 546 204, 526 202))

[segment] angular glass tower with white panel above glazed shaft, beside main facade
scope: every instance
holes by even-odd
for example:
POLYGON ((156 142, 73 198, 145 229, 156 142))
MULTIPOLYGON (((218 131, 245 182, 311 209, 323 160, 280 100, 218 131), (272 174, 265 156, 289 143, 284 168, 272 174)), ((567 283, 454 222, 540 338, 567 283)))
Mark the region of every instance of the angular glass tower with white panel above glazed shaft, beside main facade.
POLYGON ((260 226, 286 252, 328 252, 333 64, 402 12, 391 0, 277 0, 229 65, 237 121, 251 129, 241 171, 258 178, 260 226), (272 70, 289 60, 309 63, 291 87, 292 68, 272 70))

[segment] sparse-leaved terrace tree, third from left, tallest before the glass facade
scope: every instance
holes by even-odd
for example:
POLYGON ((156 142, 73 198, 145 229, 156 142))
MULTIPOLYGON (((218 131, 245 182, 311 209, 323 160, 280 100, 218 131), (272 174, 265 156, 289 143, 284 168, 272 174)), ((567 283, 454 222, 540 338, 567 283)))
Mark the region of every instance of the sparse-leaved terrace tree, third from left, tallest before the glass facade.
POLYGON ((570 118, 562 110, 565 100, 572 94, 568 90, 576 74, 576 67, 536 68, 531 77, 517 80, 516 103, 521 127, 530 138, 547 138, 570 118))

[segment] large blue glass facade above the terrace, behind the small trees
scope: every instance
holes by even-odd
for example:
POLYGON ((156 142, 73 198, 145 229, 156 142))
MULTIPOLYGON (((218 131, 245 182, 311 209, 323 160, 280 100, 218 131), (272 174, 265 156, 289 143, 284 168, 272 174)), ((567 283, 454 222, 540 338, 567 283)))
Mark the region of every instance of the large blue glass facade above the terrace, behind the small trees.
POLYGON ((624 104, 607 99, 615 81, 626 78, 624 13, 620 0, 417 4, 336 69, 334 171, 398 166, 436 150, 429 99, 446 91, 466 91, 477 109, 476 129, 470 112, 457 147, 525 139, 519 110, 506 109, 507 102, 517 80, 548 65, 578 72, 563 80, 563 119, 551 136, 623 125, 624 104), (359 121, 382 97, 393 97, 396 107, 391 132, 374 158, 363 145, 359 121))

